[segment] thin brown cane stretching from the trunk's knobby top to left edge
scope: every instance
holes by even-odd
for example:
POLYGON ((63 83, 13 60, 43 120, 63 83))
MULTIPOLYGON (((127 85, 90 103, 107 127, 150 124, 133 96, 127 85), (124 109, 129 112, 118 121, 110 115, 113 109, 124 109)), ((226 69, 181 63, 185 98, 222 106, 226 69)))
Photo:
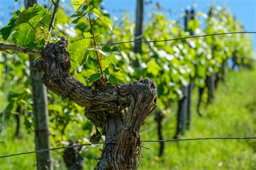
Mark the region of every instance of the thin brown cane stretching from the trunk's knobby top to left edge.
POLYGON ((31 54, 31 55, 37 55, 37 56, 42 55, 41 52, 39 51, 29 51, 28 48, 19 47, 17 45, 0 43, 0 51, 6 51, 6 50, 14 50, 14 51, 22 52, 24 54, 31 54))

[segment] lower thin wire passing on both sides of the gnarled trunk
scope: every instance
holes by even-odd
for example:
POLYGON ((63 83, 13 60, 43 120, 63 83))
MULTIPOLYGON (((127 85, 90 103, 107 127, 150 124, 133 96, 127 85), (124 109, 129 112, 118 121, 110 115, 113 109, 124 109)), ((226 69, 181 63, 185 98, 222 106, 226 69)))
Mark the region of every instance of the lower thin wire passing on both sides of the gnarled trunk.
MULTIPOLYGON (((169 142, 169 141, 187 141, 187 140, 215 140, 215 139, 256 139, 256 137, 216 137, 216 138, 187 138, 187 139, 170 139, 170 140, 141 140, 142 142, 169 142)), ((92 143, 92 144, 81 144, 81 145, 72 145, 72 146, 63 146, 63 147, 56 147, 50 148, 46 150, 39 150, 39 151, 32 151, 32 152, 22 152, 10 155, 0 156, 0 158, 7 158, 13 157, 22 154, 30 154, 30 153, 38 153, 38 152, 46 152, 51 150, 60 150, 63 148, 71 148, 71 147, 80 147, 80 146, 90 146, 90 145, 99 145, 99 144, 114 144, 112 142, 99 142, 99 143, 92 143)))

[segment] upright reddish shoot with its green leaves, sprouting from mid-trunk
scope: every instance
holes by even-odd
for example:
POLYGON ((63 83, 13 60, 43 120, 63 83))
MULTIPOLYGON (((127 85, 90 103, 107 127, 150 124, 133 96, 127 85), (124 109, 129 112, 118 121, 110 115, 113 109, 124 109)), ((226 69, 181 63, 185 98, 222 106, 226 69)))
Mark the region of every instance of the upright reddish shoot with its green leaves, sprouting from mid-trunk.
POLYGON ((116 68, 116 65, 114 65, 114 63, 110 63, 108 67, 105 67, 105 60, 102 60, 103 56, 109 57, 113 53, 119 54, 120 49, 116 46, 97 46, 97 36, 95 36, 95 32, 93 31, 93 26, 98 19, 100 19, 104 24, 109 26, 110 30, 112 30, 109 19, 102 15, 102 12, 100 12, 99 9, 90 5, 88 0, 72 0, 71 3, 73 3, 73 8, 76 12, 74 15, 70 16, 70 18, 76 18, 72 21, 72 24, 77 24, 79 19, 85 17, 91 27, 91 32, 83 33, 83 39, 78 39, 68 45, 68 51, 71 55, 71 67, 80 71, 87 59, 91 57, 93 59, 97 59, 100 73, 92 74, 87 80, 89 80, 90 82, 95 82, 103 77, 103 81, 108 80, 109 83, 113 86, 121 83, 123 81, 122 71, 116 68), (82 6, 84 11, 78 11, 80 8, 82 8, 82 6), (90 12, 93 12, 96 17, 95 22, 93 23, 91 20, 90 12), (86 17, 87 14, 88 16, 86 17), (102 70, 102 64, 105 67, 104 71, 102 70))

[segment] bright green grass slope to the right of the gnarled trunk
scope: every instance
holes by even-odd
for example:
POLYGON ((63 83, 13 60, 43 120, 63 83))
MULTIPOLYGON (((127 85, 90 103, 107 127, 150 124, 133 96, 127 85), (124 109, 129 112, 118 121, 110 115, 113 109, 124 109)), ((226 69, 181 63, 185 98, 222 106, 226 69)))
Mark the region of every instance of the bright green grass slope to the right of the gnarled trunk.
MULTIPOLYGON (((199 117, 193 107, 191 129, 183 138, 256 136, 256 72, 229 73, 220 84, 214 102, 199 117)), ((193 101, 196 101, 196 95, 193 101)), ((195 103, 194 103, 195 104, 195 103)), ((175 109, 174 109, 175 110, 175 109)), ((147 126, 156 123, 147 122, 147 126)), ((174 136, 176 117, 164 125, 164 138, 174 136)), ((144 126, 143 129, 146 129, 144 126)), ((142 135, 156 139, 157 131, 142 135)), ((256 140, 203 140, 165 143, 162 158, 157 143, 144 143, 140 169, 255 169, 256 140)))

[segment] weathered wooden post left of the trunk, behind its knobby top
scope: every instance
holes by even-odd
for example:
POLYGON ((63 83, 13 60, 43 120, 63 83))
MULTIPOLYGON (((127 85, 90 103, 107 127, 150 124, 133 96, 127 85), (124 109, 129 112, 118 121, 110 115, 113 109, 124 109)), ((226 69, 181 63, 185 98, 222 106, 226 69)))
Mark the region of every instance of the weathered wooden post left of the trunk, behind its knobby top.
MULTIPOLYGON (((26 9, 36 4, 36 0, 26 0, 26 9)), ((32 65, 35 56, 29 55, 30 65, 32 65)), ((46 88, 42 81, 42 74, 30 69, 32 97, 33 97, 33 118, 35 122, 35 143, 36 150, 50 148, 50 132, 48 119, 48 98, 46 88)), ((51 151, 40 152, 37 156, 37 169, 53 169, 51 151)))

